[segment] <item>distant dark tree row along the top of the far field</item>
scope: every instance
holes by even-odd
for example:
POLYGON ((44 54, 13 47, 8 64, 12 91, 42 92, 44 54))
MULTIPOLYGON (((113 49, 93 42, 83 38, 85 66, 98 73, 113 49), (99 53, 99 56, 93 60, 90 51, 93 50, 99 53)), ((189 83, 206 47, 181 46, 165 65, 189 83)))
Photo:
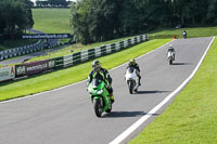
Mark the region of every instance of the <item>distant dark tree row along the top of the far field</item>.
POLYGON ((37 8, 67 8, 69 4, 68 0, 36 0, 37 8))

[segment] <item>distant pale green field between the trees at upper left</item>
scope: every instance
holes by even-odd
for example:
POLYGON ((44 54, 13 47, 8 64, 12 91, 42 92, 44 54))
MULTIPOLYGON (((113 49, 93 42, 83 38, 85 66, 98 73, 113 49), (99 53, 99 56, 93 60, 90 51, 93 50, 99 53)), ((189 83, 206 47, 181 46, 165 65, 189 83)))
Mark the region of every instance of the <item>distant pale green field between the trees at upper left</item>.
POLYGON ((34 29, 48 34, 69 34, 69 9, 33 9, 34 29))

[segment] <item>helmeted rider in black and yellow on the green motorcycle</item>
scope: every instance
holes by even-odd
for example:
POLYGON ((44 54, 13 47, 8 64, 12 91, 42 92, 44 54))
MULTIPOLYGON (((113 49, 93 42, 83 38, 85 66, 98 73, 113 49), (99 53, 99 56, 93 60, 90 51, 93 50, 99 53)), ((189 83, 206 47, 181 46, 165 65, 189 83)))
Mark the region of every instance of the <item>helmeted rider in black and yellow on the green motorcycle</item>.
POLYGON ((101 63, 98 60, 93 61, 92 63, 92 70, 89 73, 89 76, 88 76, 88 86, 92 81, 93 78, 101 79, 105 82, 106 90, 110 93, 111 102, 114 103, 112 78, 108 71, 105 68, 101 67, 101 63))

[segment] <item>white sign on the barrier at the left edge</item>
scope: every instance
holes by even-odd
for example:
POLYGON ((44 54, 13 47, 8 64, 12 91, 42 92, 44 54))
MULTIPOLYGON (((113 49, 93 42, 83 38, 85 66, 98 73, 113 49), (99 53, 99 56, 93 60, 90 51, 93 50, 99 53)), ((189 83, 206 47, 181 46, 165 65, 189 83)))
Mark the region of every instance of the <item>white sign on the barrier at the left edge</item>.
POLYGON ((14 66, 1 67, 0 68, 0 81, 10 80, 15 78, 14 66))

